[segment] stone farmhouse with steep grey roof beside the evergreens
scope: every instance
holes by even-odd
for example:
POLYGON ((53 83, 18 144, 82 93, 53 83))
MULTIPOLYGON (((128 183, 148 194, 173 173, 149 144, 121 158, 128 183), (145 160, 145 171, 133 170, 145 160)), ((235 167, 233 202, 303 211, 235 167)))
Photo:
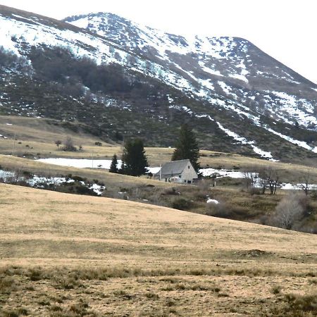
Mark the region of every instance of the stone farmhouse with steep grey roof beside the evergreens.
POLYGON ((197 181, 198 175, 189 160, 180 160, 165 163, 161 170, 154 175, 154 178, 166 182, 192 184, 197 181))

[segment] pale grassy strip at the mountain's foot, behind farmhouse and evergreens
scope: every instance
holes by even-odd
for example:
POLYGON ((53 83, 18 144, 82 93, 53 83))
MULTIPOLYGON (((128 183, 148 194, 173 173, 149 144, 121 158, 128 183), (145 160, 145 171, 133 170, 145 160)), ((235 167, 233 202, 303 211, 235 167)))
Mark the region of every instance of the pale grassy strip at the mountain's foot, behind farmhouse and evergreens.
MULTIPOLYGON (((64 157, 74 159, 111 159, 113 154, 120 158, 122 144, 109 144, 98 137, 94 137, 82 130, 74 131, 72 123, 61 123, 56 120, 39 118, 20 118, 13 116, 0 116, 0 134, 8 139, 0 138, 0 154, 14 154, 30 159, 46 157, 64 157), (57 124, 57 125, 56 125, 57 124), (71 137, 76 147, 80 145, 83 151, 61 151, 55 145, 56 140, 62 142, 66 137, 71 137), (13 140, 15 138, 15 140, 13 140), (95 142, 101 142, 97 146, 95 142)), ((63 145, 62 145, 63 146, 63 145)), ((61 146, 61 147, 62 147, 61 146)), ((173 148, 147 147, 148 161, 151 166, 170 161, 173 148)), ((257 170, 272 167, 279 170, 281 182, 300 182, 304 173, 311 174, 311 182, 317 183, 317 163, 311 167, 270 162, 261 159, 249 158, 237 154, 206 151, 201 149, 199 159, 204 168, 229 168, 237 170, 257 170), (315 168, 314 168, 315 166, 315 168)), ((1 164, 1 162, 0 162, 1 164)))

